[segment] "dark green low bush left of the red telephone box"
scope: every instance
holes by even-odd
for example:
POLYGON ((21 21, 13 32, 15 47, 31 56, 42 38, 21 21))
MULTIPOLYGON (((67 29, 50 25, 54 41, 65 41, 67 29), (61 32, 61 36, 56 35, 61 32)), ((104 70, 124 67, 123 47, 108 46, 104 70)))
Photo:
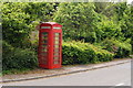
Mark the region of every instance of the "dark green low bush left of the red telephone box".
POLYGON ((30 50, 14 48, 10 44, 3 42, 2 68, 21 69, 33 68, 37 66, 37 55, 30 50))

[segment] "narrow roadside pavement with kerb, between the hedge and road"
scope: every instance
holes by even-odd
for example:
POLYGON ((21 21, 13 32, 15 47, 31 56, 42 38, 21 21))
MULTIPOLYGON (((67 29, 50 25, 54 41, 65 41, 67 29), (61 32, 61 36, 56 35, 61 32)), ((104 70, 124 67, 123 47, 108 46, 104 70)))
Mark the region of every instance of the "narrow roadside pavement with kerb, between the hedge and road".
POLYGON ((23 81, 23 80, 32 80, 39 78, 49 78, 61 75, 82 73, 82 72, 121 65, 124 63, 129 63, 131 61, 132 61, 131 58, 121 58, 121 59, 117 58, 112 62, 88 64, 88 65, 68 65, 55 69, 35 68, 33 70, 29 70, 23 74, 4 75, 1 77, 2 80, 0 80, 0 82, 23 81))

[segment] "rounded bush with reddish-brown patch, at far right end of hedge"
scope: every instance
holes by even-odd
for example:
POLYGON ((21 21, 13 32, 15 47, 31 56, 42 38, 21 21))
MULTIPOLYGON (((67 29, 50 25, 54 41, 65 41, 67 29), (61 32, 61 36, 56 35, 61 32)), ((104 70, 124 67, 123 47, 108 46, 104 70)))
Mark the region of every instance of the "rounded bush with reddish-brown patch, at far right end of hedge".
POLYGON ((101 45, 104 50, 108 50, 109 52, 112 52, 115 54, 114 57, 121 58, 121 57, 127 57, 130 56, 132 48, 130 43, 120 42, 116 40, 104 40, 101 45))

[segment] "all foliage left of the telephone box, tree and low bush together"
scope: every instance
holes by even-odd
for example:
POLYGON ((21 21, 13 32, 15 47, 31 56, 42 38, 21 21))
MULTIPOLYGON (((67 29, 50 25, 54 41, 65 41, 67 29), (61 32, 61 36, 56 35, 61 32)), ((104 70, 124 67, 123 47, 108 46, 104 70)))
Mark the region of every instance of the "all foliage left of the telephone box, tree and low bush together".
POLYGON ((45 2, 4 2, 2 4, 3 70, 38 66, 38 43, 31 40, 30 34, 40 21, 52 19, 54 8, 55 3, 45 2))

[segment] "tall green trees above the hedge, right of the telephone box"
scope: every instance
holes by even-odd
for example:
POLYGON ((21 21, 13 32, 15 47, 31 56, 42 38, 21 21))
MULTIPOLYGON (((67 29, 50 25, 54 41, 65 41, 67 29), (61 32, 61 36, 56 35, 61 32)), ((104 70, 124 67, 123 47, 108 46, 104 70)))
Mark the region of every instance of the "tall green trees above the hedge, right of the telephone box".
POLYGON ((101 42, 106 37, 125 41, 132 35, 131 9, 126 3, 61 3, 54 21, 63 25, 64 38, 101 42), (106 7, 102 11, 101 7, 106 7), (109 10, 109 13, 106 13, 109 10))

